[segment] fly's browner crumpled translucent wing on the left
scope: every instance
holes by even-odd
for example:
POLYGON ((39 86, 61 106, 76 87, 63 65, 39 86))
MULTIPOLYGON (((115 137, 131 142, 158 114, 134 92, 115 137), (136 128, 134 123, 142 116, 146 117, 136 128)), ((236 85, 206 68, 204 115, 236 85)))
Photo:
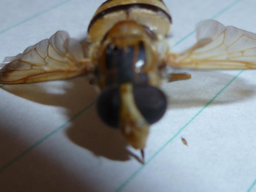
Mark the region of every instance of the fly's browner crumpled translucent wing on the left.
POLYGON ((4 62, 9 63, 0 69, 1 84, 71 78, 85 73, 90 65, 79 41, 65 31, 57 31, 17 56, 5 57, 4 62))

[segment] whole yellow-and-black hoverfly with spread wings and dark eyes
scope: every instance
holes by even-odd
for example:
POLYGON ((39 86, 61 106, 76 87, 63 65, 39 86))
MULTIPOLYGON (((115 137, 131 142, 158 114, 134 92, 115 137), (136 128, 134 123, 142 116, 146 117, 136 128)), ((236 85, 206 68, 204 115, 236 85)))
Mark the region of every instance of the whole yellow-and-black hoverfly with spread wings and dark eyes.
POLYGON ((98 115, 135 149, 146 146, 150 125, 166 111, 163 82, 190 79, 175 74, 185 69, 255 69, 256 34, 225 27, 215 20, 200 22, 197 43, 172 53, 165 40, 172 18, 162 0, 107 0, 79 42, 57 31, 49 39, 6 57, 0 83, 34 83, 81 74, 101 90, 98 115))

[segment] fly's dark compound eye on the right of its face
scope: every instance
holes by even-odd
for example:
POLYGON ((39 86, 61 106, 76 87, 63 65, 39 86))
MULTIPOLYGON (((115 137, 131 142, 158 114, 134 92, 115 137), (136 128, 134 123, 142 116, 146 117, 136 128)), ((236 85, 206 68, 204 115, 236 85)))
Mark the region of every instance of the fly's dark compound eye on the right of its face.
POLYGON ((152 86, 134 86, 133 95, 135 103, 149 124, 160 120, 167 108, 165 94, 152 86))

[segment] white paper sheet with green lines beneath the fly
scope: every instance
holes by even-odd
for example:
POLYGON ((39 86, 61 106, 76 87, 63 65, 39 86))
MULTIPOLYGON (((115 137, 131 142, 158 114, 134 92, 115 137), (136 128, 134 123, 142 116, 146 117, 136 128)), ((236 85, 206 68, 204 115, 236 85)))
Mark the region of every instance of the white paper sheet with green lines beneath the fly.
MULTIPOLYGON (((2 0, 0 60, 57 30, 84 38, 102 2, 2 0)), ((253 0, 165 3, 174 51, 195 43, 204 19, 256 33, 253 0)), ((1 191, 256 192, 256 71, 189 73, 163 86, 169 109, 151 127, 144 166, 97 117, 85 77, 1 87, 1 191)))

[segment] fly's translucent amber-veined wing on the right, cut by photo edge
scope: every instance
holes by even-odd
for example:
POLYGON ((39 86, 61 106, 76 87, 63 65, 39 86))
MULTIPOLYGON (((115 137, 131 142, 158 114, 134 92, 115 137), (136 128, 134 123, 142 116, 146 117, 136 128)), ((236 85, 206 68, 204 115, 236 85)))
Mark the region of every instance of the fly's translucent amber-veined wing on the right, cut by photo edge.
POLYGON ((215 20, 200 22, 197 43, 183 53, 168 53, 172 67, 191 69, 255 69, 256 34, 215 20))

